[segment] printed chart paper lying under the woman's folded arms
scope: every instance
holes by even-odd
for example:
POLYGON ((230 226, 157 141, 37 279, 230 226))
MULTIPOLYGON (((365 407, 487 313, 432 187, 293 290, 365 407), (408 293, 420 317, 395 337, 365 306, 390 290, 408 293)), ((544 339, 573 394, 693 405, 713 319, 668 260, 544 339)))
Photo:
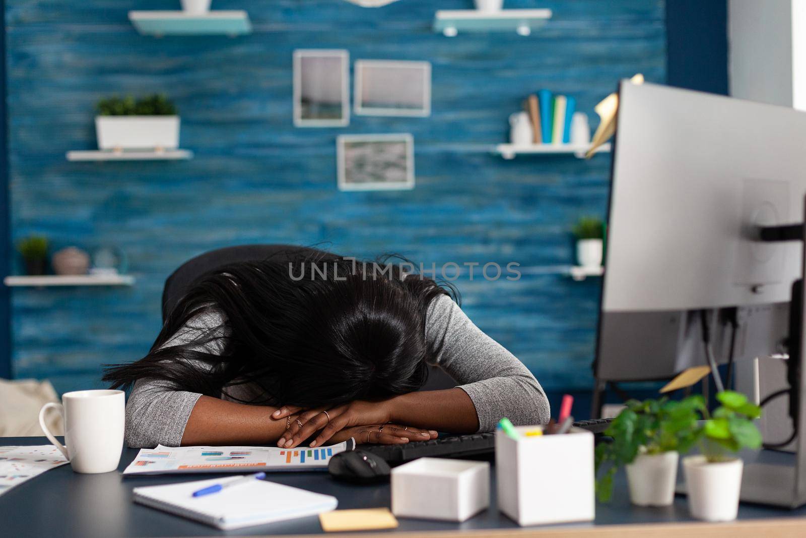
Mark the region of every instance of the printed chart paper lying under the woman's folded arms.
POLYGON ((142 448, 123 474, 240 473, 326 469, 334 454, 352 450, 355 440, 318 448, 164 447, 142 448))

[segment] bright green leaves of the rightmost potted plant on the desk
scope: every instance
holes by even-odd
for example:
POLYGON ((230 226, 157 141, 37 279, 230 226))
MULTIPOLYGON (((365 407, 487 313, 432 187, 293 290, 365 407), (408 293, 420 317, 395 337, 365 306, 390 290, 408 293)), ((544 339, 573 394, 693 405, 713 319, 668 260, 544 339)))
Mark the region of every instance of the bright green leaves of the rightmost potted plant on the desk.
POLYGON ((700 449, 709 463, 731 459, 729 453, 742 448, 761 448, 762 436, 753 419, 761 416, 761 407, 747 401, 744 394, 723 390, 717 394, 721 403, 711 415, 703 409, 704 426, 700 428, 700 449))

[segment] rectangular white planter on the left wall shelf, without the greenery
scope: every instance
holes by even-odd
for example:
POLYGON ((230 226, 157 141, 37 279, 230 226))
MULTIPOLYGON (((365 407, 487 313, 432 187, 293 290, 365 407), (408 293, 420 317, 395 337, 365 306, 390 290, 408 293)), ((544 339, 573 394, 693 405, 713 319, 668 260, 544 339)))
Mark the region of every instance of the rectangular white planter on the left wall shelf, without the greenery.
POLYGON ((175 149, 179 116, 96 116, 98 149, 175 149))

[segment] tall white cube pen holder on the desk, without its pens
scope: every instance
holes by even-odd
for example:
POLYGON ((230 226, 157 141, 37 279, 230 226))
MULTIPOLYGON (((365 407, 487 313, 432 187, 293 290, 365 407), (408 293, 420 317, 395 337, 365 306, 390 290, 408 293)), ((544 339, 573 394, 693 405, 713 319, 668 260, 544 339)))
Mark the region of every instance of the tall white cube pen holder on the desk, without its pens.
POLYGON ((542 426, 496 432, 498 509, 521 526, 592 521, 593 434, 572 427, 560 436, 526 436, 542 426))

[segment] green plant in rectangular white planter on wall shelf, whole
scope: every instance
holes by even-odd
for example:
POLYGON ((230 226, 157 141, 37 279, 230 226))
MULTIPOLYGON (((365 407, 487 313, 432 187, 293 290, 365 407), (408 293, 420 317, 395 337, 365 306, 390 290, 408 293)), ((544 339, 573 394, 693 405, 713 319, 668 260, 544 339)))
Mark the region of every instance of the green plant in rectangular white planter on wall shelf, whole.
POLYGON ((111 97, 98 102, 95 131, 98 148, 160 151, 179 147, 177 109, 164 95, 138 99, 111 97))

